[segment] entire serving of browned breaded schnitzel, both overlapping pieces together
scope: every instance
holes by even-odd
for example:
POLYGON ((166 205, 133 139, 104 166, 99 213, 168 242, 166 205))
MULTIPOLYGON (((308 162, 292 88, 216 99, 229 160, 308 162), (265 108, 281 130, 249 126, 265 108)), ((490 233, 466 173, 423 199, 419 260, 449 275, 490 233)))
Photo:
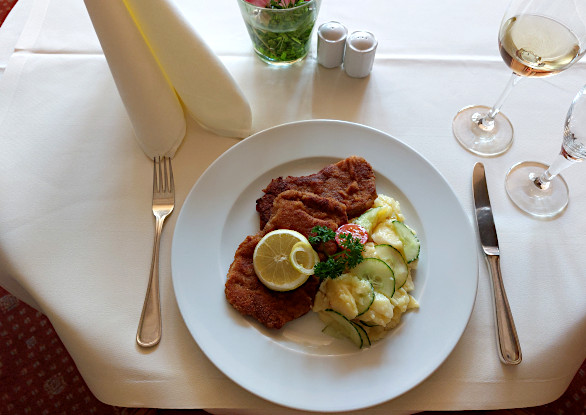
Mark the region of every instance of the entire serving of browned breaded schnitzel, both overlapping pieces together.
MULTIPOLYGON (((335 230, 372 207, 377 194, 372 167, 356 156, 309 176, 279 177, 263 191, 265 195, 256 202, 261 230, 248 236, 236 250, 225 294, 241 314, 279 329, 311 310, 319 280, 311 276, 301 287, 285 292, 265 287, 253 265, 254 248, 260 239, 275 229, 291 229, 305 236, 314 226, 335 230)), ((331 241, 318 249, 333 254, 337 246, 331 241)))

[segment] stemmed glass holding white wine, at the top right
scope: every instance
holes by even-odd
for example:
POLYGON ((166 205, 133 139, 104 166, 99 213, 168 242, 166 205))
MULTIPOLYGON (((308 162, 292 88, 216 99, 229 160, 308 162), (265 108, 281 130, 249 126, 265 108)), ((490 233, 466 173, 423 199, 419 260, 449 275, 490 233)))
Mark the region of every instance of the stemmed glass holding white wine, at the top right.
MULTIPOLYGON (((523 79, 555 75, 586 52, 586 1, 513 0, 499 31, 501 57, 513 74, 492 108, 462 108, 452 121, 456 139, 467 150, 497 156, 513 143, 513 125, 501 107, 523 79)), ((485 83, 479 83, 486 87, 485 83)))

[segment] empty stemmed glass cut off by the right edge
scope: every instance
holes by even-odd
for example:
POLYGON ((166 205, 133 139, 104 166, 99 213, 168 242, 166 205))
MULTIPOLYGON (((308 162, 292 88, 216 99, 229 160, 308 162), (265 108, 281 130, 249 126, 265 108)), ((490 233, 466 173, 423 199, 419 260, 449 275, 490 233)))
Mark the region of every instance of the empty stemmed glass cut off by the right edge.
POLYGON ((548 167, 523 162, 509 170, 505 187, 509 198, 521 210, 540 218, 551 218, 568 205, 568 185, 559 173, 586 158, 586 85, 574 97, 566 122, 562 150, 548 167))

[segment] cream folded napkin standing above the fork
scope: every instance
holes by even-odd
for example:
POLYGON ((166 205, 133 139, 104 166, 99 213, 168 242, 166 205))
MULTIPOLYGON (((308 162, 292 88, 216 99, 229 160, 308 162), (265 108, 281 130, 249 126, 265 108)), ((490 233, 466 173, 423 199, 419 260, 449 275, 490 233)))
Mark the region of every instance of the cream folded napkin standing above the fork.
POLYGON ((84 0, 136 138, 172 157, 185 135, 183 102, 204 128, 246 137, 250 105, 230 73, 169 0, 84 0))

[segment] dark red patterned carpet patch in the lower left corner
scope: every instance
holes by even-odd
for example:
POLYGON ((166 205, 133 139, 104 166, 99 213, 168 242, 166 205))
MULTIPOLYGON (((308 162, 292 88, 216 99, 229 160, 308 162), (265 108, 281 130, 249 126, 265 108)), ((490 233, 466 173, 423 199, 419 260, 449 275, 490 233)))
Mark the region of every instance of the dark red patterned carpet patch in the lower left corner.
POLYGON ((94 398, 49 320, 1 288, 0 350, 0 413, 126 413, 94 398))

